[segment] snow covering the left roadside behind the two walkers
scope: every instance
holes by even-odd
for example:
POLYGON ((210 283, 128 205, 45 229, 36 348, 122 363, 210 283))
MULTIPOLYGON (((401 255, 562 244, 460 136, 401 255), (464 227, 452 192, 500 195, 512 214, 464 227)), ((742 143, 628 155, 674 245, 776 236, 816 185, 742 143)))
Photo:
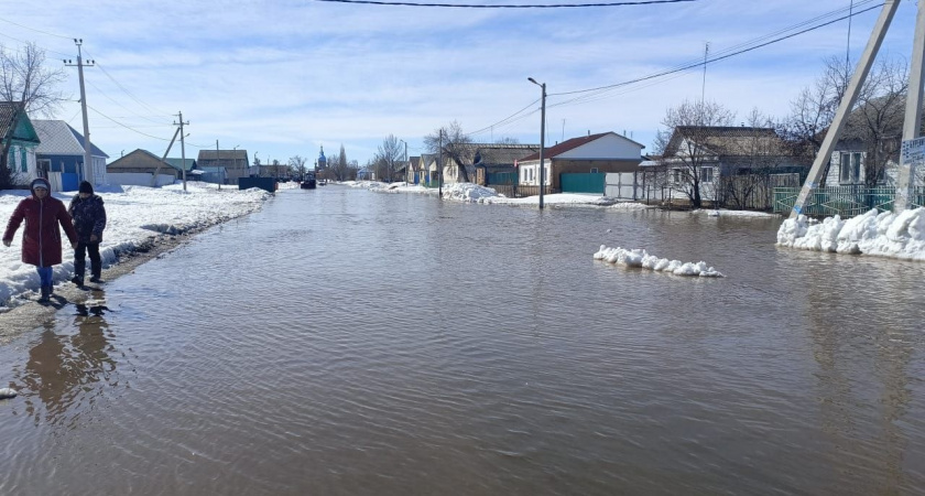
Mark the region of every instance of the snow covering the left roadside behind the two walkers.
MULTIPOLYGON (((0 191, 0 228, 7 222, 28 191, 0 191)), ((102 233, 100 258, 102 266, 115 263, 124 252, 144 249, 163 235, 176 235, 204 228, 249 214, 260 208, 273 195, 259 188, 239 191, 236 186, 208 183, 187 183, 161 188, 144 186, 100 186, 97 194, 106 205, 107 225, 102 233)), ((54 197, 70 203, 73 193, 54 193, 54 197)), ((0 309, 13 305, 15 296, 37 291, 39 274, 33 266, 21 261, 22 236, 20 226, 10 248, 0 245, 0 309)), ((74 252, 66 239, 62 246, 64 263, 54 267, 56 283, 74 277, 74 252)), ((89 262, 87 263, 89 268, 89 262)))

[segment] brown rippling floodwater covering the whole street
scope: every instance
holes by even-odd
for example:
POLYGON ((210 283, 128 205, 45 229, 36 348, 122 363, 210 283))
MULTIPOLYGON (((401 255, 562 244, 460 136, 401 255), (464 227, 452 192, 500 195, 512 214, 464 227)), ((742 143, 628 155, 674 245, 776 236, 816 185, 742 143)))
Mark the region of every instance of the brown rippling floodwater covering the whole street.
POLYGON ((0 494, 923 494, 925 265, 779 225, 280 192, 0 348, 0 494))

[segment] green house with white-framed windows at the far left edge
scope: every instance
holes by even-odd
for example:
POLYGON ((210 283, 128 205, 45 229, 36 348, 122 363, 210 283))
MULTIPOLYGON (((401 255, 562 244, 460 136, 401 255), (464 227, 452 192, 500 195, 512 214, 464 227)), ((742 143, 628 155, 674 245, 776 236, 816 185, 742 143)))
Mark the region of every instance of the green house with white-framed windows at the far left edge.
POLYGON ((7 168, 12 184, 29 184, 40 177, 35 148, 41 143, 37 132, 17 101, 0 101, 0 145, 7 151, 7 168))

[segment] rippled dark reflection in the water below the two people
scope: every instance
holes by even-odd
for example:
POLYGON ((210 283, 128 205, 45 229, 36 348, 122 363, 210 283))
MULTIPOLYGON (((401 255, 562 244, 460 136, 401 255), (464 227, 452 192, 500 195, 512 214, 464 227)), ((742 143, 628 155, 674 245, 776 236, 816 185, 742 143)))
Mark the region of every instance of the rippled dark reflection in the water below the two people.
POLYGON ((34 423, 72 424, 98 398, 106 386, 119 384, 113 335, 105 319, 105 302, 76 304, 73 334, 61 334, 50 323, 29 351, 24 369, 15 377, 23 392, 25 413, 34 423))

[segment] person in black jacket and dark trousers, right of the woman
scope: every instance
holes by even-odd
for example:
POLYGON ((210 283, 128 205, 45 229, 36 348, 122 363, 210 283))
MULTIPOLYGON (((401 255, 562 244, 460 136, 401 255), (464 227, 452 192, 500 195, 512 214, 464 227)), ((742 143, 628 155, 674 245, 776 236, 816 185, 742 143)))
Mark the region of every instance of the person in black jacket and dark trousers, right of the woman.
POLYGON ((106 208, 102 198, 94 194, 92 184, 80 182, 77 194, 67 208, 77 230, 77 247, 74 249, 74 279, 70 282, 84 285, 87 255, 90 256, 90 282, 101 282, 102 261, 99 259, 99 244, 106 228, 106 208))

